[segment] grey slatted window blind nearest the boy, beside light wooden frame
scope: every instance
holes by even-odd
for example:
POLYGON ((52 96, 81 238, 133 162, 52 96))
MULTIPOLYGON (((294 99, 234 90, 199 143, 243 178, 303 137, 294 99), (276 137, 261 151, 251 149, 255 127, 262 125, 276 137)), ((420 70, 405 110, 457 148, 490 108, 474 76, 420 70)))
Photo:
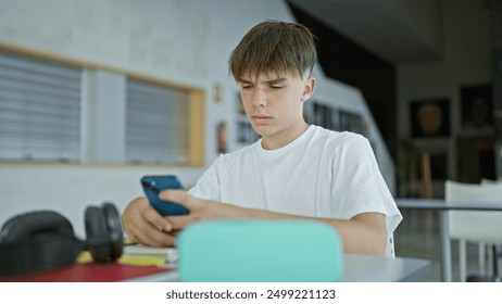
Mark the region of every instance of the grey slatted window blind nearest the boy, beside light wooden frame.
POLYGON ((189 161, 189 92, 127 79, 126 161, 189 161))

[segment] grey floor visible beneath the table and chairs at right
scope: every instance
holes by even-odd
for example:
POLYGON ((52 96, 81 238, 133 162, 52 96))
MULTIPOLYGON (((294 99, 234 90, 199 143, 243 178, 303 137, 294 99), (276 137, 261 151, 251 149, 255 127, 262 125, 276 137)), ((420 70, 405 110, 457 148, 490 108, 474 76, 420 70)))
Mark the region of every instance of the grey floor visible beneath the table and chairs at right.
MULTIPOLYGON (((431 261, 432 267, 430 271, 417 281, 440 282, 441 244, 438 214, 431 211, 403 210, 402 215, 403 221, 394 232, 396 255, 431 261)), ((480 274, 478 269, 478 251, 475 244, 467 245, 467 274, 480 274)), ((452 241, 452 280, 460 281, 459 245, 455 241, 452 241)))

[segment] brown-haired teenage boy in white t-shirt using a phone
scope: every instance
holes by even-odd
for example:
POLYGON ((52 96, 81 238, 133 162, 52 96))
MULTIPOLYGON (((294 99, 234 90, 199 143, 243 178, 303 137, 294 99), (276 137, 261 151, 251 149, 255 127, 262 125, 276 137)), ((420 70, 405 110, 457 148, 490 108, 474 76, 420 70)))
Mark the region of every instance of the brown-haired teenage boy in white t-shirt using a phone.
POLYGON ((303 118, 316 61, 306 27, 266 21, 251 28, 233 51, 229 69, 261 139, 218 156, 188 192, 161 192, 189 215, 163 217, 146 198, 131 201, 122 217, 128 237, 172 246, 176 231, 198 220, 311 219, 332 226, 347 253, 394 256, 392 233, 402 216, 368 141, 303 118))

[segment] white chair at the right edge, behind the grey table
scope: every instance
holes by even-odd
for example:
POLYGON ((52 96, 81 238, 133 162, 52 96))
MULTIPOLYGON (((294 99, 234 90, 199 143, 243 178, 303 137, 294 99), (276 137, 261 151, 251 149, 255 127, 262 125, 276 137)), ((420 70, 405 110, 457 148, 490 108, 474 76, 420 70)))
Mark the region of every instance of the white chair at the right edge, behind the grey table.
MULTIPOLYGON (((467 204, 470 204, 469 202, 502 204, 502 185, 475 185, 447 180, 445 200, 467 204)), ((484 273, 487 244, 502 243, 502 212, 450 211, 449 221, 450 239, 459 241, 460 280, 465 281, 467 279, 467 242, 478 243, 478 264, 480 271, 484 273)), ((497 269, 497 261, 492 263, 497 269)))

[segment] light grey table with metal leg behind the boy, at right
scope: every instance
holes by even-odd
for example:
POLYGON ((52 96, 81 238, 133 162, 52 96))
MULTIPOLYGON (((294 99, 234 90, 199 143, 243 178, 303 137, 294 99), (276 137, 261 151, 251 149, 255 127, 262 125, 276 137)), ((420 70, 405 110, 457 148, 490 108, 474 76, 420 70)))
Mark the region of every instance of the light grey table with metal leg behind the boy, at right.
POLYGON ((439 212, 440 238, 441 238, 441 279, 444 282, 452 281, 450 219, 448 211, 502 211, 501 204, 486 202, 447 202, 444 200, 425 199, 397 199, 399 208, 434 210, 439 212))

